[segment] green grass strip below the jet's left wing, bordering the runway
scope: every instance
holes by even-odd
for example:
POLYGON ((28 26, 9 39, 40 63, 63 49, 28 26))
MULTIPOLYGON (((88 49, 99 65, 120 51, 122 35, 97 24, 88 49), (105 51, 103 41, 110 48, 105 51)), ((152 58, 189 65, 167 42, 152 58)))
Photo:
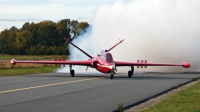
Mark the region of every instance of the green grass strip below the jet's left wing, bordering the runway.
POLYGON ((32 67, 32 68, 7 68, 0 69, 0 76, 13 76, 24 74, 48 73, 57 70, 58 67, 32 67))

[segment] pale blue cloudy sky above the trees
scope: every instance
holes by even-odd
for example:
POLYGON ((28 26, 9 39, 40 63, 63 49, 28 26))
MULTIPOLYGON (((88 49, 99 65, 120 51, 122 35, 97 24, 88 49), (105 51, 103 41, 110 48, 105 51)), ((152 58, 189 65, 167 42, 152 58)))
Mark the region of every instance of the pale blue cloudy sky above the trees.
MULTIPOLYGON (((92 23, 92 14, 102 4, 117 0, 0 0, 0 31, 29 22, 69 18, 92 23)), ((133 0, 121 0, 131 2, 133 0)))

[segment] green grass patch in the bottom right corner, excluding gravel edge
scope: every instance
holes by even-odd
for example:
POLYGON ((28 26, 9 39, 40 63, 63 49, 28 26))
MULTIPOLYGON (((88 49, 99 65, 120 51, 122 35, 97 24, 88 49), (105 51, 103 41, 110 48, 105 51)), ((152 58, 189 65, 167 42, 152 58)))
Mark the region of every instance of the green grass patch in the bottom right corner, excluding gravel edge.
POLYGON ((140 112, 200 112, 200 82, 140 112))

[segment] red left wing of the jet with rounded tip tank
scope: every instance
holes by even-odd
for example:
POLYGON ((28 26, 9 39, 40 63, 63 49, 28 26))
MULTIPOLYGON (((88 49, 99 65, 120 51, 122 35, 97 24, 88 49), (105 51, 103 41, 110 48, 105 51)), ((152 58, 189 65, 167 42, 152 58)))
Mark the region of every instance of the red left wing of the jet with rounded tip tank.
POLYGON ((35 64, 66 64, 66 65, 82 65, 82 66, 91 66, 92 61, 90 60, 82 60, 82 61, 66 61, 66 60, 45 60, 45 61, 31 61, 31 60, 11 60, 11 64, 16 64, 16 63, 35 63, 35 64))

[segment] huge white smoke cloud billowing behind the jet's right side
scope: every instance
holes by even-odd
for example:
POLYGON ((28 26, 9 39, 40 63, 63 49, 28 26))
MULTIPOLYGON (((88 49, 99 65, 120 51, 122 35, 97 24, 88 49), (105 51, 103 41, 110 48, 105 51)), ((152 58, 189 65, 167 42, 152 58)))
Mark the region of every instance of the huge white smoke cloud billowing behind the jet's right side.
MULTIPOLYGON (((117 43, 118 39, 125 39, 111 51, 115 60, 135 62, 146 59, 148 62, 180 64, 186 61, 191 64, 189 69, 149 67, 145 71, 199 70, 199 6, 198 0, 134 0, 101 5, 94 11, 89 38, 74 43, 95 55, 98 50, 117 43)), ((72 56, 77 55, 84 54, 73 50, 72 56)))

